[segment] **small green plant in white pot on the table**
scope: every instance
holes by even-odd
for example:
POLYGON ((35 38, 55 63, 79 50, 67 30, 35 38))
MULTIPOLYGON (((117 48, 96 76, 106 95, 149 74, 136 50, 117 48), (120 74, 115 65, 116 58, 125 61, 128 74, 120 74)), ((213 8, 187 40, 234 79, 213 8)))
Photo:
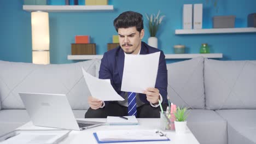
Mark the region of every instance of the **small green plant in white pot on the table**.
POLYGON ((176 112, 174 112, 174 116, 176 117, 174 121, 175 125, 175 131, 177 134, 184 134, 186 131, 186 125, 187 125, 187 107, 180 108, 179 106, 177 107, 176 112))

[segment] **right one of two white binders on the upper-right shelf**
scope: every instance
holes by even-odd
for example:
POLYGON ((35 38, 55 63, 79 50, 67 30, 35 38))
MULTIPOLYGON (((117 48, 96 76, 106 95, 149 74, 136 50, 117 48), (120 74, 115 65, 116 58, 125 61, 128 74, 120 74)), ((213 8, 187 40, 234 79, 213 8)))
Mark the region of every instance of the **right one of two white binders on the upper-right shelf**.
POLYGON ((202 4, 194 4, 193 28, 202 29, 202 4))

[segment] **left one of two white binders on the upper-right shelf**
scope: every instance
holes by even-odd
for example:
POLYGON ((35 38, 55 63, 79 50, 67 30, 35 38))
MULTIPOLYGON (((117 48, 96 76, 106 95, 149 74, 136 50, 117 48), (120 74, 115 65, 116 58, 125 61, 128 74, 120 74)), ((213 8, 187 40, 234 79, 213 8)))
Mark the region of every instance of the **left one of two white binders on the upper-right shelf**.
POLYGON ((183 29, 192 29, 192 4, 183 5, 183 29))

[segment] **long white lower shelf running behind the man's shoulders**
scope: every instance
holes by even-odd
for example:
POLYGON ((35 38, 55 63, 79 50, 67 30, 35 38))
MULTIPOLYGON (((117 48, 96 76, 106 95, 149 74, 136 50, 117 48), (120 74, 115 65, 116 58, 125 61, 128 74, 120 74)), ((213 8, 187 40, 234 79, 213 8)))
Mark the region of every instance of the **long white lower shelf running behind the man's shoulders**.
MULTIPOLYGON (((206 58, 222 58, 222 53, 185 53, 185 54, 166 54, 165 59, 189 59, 194 57, 206 57, 206 58)), ((98 58, 101 59, 103 55, 68 55, 69 60, 88 60, 98 58)))

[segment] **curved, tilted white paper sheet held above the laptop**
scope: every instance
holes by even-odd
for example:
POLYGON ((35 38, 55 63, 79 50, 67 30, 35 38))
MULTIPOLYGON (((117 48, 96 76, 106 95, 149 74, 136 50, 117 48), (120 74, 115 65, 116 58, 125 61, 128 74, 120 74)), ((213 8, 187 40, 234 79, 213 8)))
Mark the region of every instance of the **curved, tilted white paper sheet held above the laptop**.
POLYGON ((109 100, 124 100, 115 89, 112 87, 110 80, 102 80, 97 77, 91 76, 86 73, 86 71, 82 68, 85 82, 91 92, 91 96, 103 101, 109 100))

